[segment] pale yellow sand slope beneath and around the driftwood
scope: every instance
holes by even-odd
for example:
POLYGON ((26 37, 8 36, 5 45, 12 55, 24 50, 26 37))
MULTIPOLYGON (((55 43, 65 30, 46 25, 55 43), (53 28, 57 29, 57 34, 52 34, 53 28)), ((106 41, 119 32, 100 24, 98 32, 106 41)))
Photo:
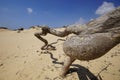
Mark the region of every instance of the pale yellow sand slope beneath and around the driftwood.
MULTIPOLYGON (((41 30, 29 29, 21 33, 0 30, 0 80, 90 80, 87 78, 98 73, 101 80, 120 80, 120 45, 99 59, 89 62, 76 60, 73 64, 78 67, 71 66, 73 72, 61 79, 62 65, 52 61, 55 58, 58 62, 64 61, 63 41, 54 44, 56 51, 49 51, 53 54, 52 59, 50 53, 41 53, 44 43, 34 36, 38 31, 41 30)), ((48 34, 44 38, 52 43, 60 37, 48 34)))

